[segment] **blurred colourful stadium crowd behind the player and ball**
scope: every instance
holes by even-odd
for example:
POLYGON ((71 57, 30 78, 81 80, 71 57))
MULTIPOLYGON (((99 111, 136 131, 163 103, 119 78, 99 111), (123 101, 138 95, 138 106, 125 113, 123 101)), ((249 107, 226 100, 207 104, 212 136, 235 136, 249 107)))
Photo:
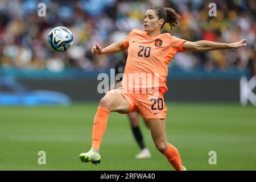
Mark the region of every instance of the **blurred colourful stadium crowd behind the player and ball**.
MULTIPOLYGON (((134 28, 143 30, 143 17, 151 5, 172 7, 181 15, 172 35, 190 41, 211 40, 232 43, 247 40, 246 48, 206 53, 178 53, 170 67, 184 71, 204 69, 246 69, 256 75, 256 1, 254 0, 1 0, 0 40, 2 67, 101 70, 114 68, 122 54, 92 55, 94 43, 106 47, 122 40, 134 28), (46 17, 38 16, 44 2, 46 17), (209 3, 217 5, 217 16, 209 17, 209 3), (72 31, 73 46, 67 52, 53 51, 47 35, 56 26, 72 31)), ((169 32, 168 26, 164 32, 169 32)))

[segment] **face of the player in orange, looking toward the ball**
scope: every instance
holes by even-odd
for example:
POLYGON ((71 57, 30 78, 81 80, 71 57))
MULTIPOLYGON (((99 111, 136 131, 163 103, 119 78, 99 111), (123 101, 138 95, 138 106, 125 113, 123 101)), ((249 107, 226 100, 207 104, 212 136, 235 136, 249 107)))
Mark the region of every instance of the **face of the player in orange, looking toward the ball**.
POLYGON ((158 18, 154 10, 147 10, 144 16, 144 30, 146 32, 152 32, 160 30, 163 24, 163 19, 158 18))

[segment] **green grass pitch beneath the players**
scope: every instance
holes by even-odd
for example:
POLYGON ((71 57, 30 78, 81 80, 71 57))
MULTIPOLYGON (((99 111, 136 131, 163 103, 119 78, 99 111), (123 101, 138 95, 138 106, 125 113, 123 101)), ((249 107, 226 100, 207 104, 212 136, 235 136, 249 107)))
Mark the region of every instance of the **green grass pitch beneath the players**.
MULTIPOLYGON (((256 107, 239 104, 168 103, 167 135, 188 170, 256 170, 256 107), (217 164, 210 165, 209 152, 217 164)), ((69 107, 0 107, 1 170, 172 170, 141 128, 151 159, 135 159, 139 147, 126 115, 110 113, 101 164, 81 163, 91 145, 97 103, 69 107), (38 152, 46 152, 46 165, 38 152)))

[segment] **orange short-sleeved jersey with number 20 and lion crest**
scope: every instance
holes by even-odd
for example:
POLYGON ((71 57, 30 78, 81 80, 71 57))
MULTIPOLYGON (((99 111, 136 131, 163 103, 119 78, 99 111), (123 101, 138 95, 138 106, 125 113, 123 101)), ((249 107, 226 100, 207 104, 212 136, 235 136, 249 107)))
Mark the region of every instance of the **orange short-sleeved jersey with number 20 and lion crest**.
POLYGON ((182 47, 184 42, 185 40, 167 33, 150 37, 146 31, 137 29, 131 31, 123 39, 123 46, 128 48, 128 57, 123 75, 126 79, 123 78, 120 88, 130 90, 158 87, 162 93, 166 92, 167 64, 175 53, 185 52, 182 47), (136 74, 138 77, 132 78, 136 74), (153 81, 148 81, 150 77, 153 81))

